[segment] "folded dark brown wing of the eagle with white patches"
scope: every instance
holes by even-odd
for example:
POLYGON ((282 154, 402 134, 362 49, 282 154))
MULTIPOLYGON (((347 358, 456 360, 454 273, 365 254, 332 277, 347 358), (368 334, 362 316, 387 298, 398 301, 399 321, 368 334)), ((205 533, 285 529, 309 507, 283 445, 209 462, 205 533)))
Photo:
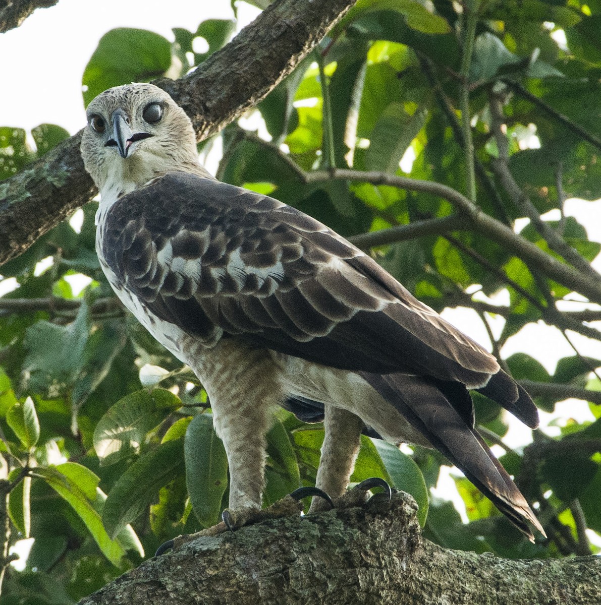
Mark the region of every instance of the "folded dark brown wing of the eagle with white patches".
POLYGON ((150 312, 208 346, 225 333, 331 367, 470 388, 499 370, 328 227, 225 183, 173 172, 124 195, 102 252, 150 312))

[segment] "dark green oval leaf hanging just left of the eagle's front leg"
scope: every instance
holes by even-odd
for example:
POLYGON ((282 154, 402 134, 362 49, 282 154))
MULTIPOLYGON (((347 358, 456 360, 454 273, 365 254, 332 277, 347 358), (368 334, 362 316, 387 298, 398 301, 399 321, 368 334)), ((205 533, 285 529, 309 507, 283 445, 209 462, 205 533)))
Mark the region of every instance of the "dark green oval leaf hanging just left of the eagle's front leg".
POLYGON ((194 417, 184 439, 186 485, 196 518, 202 526, 219 522, 227 488, 227 456, 213 428, 211 414, 194 417))

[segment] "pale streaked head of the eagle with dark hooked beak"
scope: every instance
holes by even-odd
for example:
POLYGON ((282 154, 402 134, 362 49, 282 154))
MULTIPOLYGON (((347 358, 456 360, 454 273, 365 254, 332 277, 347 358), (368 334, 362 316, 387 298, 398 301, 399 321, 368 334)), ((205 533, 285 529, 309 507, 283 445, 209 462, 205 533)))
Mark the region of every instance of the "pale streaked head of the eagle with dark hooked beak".
POLYGON ((153 84, 109 88, 86 113, 81 153, 103 197, 128 193, 166 172, 199 169, 190 119, 153 84))

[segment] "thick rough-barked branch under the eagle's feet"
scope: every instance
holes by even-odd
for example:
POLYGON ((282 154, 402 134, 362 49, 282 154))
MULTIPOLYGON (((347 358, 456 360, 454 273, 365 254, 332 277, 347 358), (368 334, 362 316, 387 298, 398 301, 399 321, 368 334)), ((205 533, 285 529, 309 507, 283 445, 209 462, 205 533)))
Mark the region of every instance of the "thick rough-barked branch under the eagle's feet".
POLYGON ((416 504, 287 517, 191 541, 146 561, 80 605, 594 605, 601 558, 505 560, 420 535, 416 504))

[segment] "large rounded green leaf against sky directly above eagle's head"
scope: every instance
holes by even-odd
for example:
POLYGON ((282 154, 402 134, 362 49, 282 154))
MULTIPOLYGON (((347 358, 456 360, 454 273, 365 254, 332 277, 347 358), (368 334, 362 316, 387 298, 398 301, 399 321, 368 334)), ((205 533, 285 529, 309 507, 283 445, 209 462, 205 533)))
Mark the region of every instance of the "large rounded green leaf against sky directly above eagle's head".
POLYGON ((159 34, 130 27, 107 31, 85 66, 84 105, 107 88, 150 82, 170 67, 171 43, 159 34))

